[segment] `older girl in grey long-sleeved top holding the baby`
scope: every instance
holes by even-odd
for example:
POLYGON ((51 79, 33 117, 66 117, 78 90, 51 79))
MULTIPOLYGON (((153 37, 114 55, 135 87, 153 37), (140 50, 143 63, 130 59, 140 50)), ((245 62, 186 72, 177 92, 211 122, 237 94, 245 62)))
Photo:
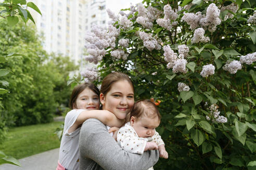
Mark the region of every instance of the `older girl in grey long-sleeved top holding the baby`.
MULTIPOLYGON (((106 76, 101 84, 100 102, 103 110, 109 110, 118 119, 124 120, 134 105, 131 79, 119 72, 106 76)), ((149 150, 142 155, 122 150, 116 140, 109 135, 107 126, 96 119, 89 119, 83 123, 79 150, 81 170, 148 169, 159 159, 157 150, 149 150)))

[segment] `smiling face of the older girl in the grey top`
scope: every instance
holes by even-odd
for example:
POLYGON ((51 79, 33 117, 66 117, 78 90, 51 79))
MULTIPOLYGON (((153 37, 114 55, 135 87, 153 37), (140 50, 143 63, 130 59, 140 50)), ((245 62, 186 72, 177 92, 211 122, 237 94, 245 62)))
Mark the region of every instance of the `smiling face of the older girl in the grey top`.
POLYGON ((133 87, 127 80, 117 81, 106 95, 100 93, 100 102, 104 110, 111 111, 118 119, 125 119, 134 105, 133 87))

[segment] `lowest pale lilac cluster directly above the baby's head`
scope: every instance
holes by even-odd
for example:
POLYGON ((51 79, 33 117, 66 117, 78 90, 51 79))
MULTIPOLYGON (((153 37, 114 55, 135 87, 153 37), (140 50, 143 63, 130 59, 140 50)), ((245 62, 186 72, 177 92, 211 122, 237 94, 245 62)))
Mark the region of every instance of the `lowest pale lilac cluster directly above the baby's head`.
POLYGON ((146 47, 149 51, 152 51, 153 49, 160 50, 161 49, 161 40, 155 36, 152 37, 152 34, 147 34, 145 32, 139 32, 140 39, 143 40, 143 45, 146 47))

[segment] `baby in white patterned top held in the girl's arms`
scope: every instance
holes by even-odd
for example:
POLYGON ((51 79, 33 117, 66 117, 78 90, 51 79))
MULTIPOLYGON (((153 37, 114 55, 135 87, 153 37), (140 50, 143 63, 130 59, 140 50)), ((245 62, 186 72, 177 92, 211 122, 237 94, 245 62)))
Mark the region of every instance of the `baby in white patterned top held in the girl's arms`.
MULTIPOLYGON (((127 122, 117 134, 118 144, 126 151, 143 154, 144 151, 158 149, 161 158, 168 158, 161 136, 156 132, 160 124, 160 113, 149 100, 138 101, 127 122)), ((152 167, 150 168, 152 169, 152 167)))

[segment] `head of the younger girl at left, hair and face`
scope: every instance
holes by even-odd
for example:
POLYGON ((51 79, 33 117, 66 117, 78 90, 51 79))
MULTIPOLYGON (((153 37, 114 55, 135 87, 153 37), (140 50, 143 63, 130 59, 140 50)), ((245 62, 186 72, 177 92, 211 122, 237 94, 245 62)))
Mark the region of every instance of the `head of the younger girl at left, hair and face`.
POLYGON ((76 86, 70 96, 71 109, 99 109, 99 89, 93 83, 83 83, 76 86))

